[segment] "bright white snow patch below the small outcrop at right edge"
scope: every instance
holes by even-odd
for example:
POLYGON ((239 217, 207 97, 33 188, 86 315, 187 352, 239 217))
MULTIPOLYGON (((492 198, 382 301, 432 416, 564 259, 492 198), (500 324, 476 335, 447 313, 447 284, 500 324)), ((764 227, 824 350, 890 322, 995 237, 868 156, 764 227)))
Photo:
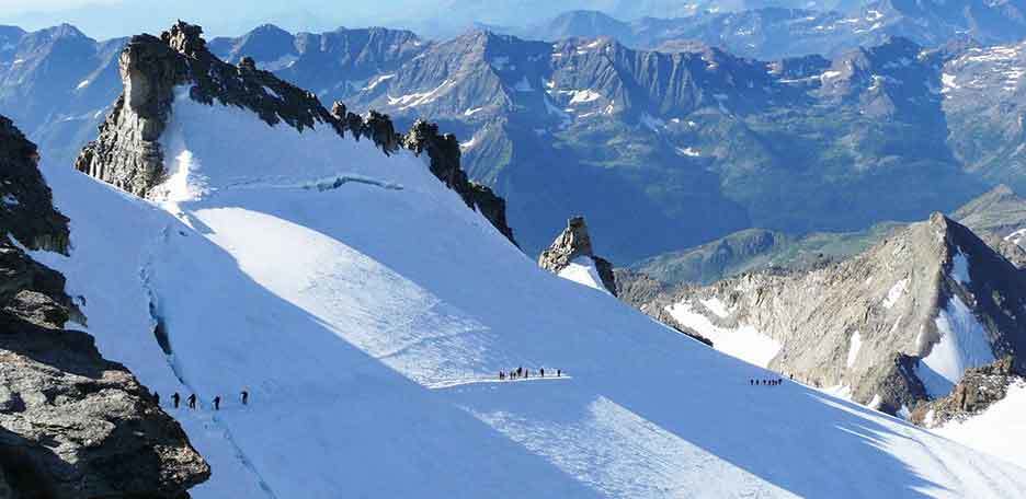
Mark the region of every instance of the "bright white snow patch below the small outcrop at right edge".
POLYGON ((933 432, 1026 467, 1023 414, 1026 414, 1026 384, 1019 383, 1008 386, 1007 395, 983 414, 964 421, 949 421, 933 432))

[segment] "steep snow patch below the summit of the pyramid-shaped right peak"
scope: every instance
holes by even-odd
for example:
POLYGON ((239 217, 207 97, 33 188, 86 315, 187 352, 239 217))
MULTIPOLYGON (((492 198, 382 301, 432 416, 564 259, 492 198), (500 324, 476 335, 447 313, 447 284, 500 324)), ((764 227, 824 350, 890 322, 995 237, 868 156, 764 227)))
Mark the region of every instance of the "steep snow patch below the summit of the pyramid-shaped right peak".
POLYGON ((934 320, 941 340, 920 361, 920 379, 934 397, 951 393, 968 368, 993 362, 983 325, 958 297, 951 297, 934 320))

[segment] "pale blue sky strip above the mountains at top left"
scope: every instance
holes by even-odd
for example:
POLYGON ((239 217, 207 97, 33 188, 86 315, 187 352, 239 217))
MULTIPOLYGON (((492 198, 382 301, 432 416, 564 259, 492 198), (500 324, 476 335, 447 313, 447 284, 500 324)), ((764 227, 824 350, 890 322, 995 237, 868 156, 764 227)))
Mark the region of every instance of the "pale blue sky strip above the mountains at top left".
POLYGON ((681 0, 0 0, 0 24, 39 30, 61 23, 107 39, 157 34, 181 19, 208 37, 237 36, 273 23, 290 32, 340 26, 413 30, 452 36, 474 23, 524 26, 568 10, 601 10, 620 19, 670 16, 681 0))

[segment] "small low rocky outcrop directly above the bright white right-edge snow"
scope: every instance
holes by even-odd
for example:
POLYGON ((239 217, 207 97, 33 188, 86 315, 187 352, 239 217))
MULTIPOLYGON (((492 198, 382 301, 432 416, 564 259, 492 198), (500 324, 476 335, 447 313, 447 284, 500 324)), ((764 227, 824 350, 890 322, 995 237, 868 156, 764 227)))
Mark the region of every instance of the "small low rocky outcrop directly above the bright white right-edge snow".
POLYGON ((1026 373, 1013 357, 967 369, 966 375, 950 395, 920 404, 912 411, 911 420, 916 425, 935 428, 978 415, 1004 398, 1010 385, 1026 381, 1024 375, 1026 373))

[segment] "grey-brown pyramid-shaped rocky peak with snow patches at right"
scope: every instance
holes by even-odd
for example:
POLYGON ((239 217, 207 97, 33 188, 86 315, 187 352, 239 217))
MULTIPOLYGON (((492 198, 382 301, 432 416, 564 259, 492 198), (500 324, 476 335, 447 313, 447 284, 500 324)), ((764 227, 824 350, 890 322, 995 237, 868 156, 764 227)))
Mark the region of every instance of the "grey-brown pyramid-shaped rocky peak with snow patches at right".
POLYGON ((717 334, 755 330, 779 346, 767 368, 907 414, 946 396, 962 376, 939 357, 956 356, 966 367, 1023 360, 1024 306, 1024 276, 969 229, 935 213, 844 262, 685 287, 642 310, 668 311, 714 344, 717 334), (935 349, 943 352, 931 358, 935 349))

